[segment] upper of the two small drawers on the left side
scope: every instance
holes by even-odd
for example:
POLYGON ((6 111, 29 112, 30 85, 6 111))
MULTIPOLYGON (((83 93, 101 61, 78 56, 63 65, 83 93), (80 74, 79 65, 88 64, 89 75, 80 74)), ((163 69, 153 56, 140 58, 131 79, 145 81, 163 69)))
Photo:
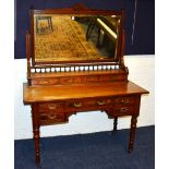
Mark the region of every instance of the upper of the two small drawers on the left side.
POLYGON ((38 105, 38 111, 43 112, 63 112, 64 102, 43 102, 38 105))

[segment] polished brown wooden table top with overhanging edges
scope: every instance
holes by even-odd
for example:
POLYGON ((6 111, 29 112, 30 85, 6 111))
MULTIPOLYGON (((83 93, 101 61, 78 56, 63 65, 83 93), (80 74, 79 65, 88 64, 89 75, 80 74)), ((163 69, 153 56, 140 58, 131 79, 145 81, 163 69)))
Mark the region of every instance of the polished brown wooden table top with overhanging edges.
POLYGON ((148 90, 130 81, 52 86, 28 86, 27 83, 23 84, 24 104, 134 94, 148 94, 148 90))

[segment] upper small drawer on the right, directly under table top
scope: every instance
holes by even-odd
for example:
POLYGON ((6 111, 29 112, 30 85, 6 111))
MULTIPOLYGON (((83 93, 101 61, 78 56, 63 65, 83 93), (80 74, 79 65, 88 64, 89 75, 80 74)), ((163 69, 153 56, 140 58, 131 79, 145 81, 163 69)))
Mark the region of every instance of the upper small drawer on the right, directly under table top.
POLYGON ((134 104, 135 98, 134 96, 123 96, 123 97, 117 97, 114 98, 113 102, 116 105, 132 105, 134 104))

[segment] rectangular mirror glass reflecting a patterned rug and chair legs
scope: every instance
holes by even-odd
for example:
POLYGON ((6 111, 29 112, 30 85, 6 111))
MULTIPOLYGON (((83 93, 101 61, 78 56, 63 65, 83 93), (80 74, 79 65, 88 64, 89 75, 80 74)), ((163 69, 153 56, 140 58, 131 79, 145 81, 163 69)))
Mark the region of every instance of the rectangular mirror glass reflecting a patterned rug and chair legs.
POLYGON ((34 15, 35 62, 116 59, 120 16, 34 15))

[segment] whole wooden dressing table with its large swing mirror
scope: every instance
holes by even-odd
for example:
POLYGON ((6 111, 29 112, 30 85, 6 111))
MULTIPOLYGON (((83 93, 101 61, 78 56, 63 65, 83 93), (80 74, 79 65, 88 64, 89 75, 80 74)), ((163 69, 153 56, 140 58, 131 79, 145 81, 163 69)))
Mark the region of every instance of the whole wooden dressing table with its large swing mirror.
POLYGON ((23 101, 32 107, 37 165, 39 128, 68 122, 71 114, 84 111, 105 111, 114 119, 113 131, 118 117, 131 116, 132 152, 141 95, 148 92, 128 80, 122 23, 123 11, 88 10, 82 4, 31 11, 23 101))

